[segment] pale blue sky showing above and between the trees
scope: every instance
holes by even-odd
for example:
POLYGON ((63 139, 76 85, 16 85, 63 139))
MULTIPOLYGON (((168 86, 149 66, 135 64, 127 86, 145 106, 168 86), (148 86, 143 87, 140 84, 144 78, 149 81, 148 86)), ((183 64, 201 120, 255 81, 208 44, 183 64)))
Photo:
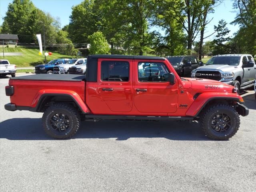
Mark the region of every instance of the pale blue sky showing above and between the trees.
MULTIPOLYGON (((0 0, 0 24, 3 22, 3 17, 6 14, 8 4, 11 3, 12 0, 0 0)), ((59 17, 61 26, 65 26, 69 23, 69 16, 72 11, 72 6, 75 6, 82 2, 82 0, 32 0, 34 5, 44 12, 49 12, 54 18, 59 17)), ((218 25, 218 21, 224 19, 228 23, 228 29, 230 30, 230 36, 232 36, 237 30, 239 26, 231 25, 236 16, 234 9, 232 9, 232 0, 223 0, 223 2, 215 8, 215 12, 209 14, 208 19, 212 19, 210 24, 207 25, 206 33, 204 36, 208 36, 214 32, 214 25, 218 25)), ((150 30, 157 30, 158 28, 152 28, 150 30)), ((206 40, 213 40, 215 38, 214 35, 210 36, 206 40)), ((197 38, 199 40, 199 37, 197 38)))

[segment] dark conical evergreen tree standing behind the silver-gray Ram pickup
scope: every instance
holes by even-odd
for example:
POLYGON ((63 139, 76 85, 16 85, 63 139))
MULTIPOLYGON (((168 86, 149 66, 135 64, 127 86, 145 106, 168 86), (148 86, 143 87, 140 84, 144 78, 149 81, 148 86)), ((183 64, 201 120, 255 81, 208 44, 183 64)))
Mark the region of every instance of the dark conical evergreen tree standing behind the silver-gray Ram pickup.
POLYGON ((217 32, 216 39, 212 41, 214 44, 214 55, 227 53, 227 46, 224 43, 229 41, 231 38, 230 36, 227 36, 230 30, 228 30, 226 25, 227 22, 225 22, 223 19, 218 22, 218 26, 214 25, 214 31, 217 32))

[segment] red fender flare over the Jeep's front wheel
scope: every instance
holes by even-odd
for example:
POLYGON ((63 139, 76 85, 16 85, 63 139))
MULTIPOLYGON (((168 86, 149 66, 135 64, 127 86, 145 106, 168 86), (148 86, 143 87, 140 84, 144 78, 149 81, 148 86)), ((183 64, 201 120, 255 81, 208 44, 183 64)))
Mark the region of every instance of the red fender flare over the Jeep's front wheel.
POLYGON ((192 103, 192 105, 188 108, 186 112, 186 116, 193 116, 196 117, 204 108, 204 106, 213 99, 228 99, 228 100, 236 100, 236 101, 243 101, 243 98, 236 94, 236 93, 219 93, 219 92, 206 92, 200 94, 192 103))

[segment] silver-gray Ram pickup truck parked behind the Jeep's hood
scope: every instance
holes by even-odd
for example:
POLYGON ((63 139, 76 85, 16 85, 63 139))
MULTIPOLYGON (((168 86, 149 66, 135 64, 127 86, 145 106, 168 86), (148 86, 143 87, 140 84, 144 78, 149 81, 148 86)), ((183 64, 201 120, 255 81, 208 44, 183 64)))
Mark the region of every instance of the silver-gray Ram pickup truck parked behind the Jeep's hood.
POLYGON ((192 71, 192 78, 217 80, 233 85, 239 93, 240 89, 254 86, 256 64, 249 54, 226 54, 213 56, 192 71))

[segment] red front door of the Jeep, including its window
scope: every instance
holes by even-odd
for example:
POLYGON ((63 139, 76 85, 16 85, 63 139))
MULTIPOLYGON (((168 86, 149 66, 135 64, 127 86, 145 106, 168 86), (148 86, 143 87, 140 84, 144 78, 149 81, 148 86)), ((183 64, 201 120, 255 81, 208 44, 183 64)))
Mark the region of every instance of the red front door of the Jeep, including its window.
POLYGON ((178 82, 164 78, 171 68, 164 61, 134 60, 134 106, 139 112, 174 113, 177 110, 178 82))

